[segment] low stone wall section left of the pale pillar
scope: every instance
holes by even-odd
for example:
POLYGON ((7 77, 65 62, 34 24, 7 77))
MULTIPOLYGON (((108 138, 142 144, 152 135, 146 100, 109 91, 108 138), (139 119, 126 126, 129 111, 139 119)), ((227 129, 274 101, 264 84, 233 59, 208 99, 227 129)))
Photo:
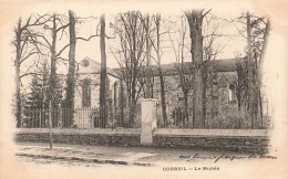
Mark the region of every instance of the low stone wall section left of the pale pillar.
MULTIPOLYGON (((53 129, 53 143, 140 146, 140 129, 53 129)), ((49 143, 49 129, 19 129, 16 141, 49 143)))

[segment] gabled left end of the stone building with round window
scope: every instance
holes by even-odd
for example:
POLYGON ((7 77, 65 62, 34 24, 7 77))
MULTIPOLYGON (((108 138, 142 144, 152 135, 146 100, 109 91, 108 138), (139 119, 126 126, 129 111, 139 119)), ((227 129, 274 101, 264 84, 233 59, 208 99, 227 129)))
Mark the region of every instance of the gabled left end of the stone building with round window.
MULTIPOLYGON (((94 118, 99 112, 101 64, 90 57, 84 57, 78 69, 75 81, 75 114, 74 125, 78 128, 93 128, 94 118)), ((119 75, 107 67, 107 106, 112 108, 113 88, 121 80, 119 75)))

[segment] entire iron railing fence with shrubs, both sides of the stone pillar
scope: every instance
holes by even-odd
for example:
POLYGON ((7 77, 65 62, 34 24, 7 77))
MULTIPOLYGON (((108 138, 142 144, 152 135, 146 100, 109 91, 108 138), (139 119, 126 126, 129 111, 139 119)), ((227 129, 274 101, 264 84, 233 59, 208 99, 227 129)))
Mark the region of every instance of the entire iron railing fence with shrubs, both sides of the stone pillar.
MULTIPOLYGON (((245 108, 246 106, 243 106, 245 108)), ((218 110, 206 112, 205 128, 215 129, 249 129, 272 128, 268 102, 263 102, 253 114, 234 105, 222 105, 218 110), (261 108, 261 109, 260 109, 261 108), (261 112, 261 113, 260 113, 261 112)), ((141 128, 141 107, 136 109, 134 123, 128 123, 128 110, 109 112, 106 120, 100 118, 99 108, 49 108, 24 109, 22 117, 23 128, 48 128, 49 117, 53 128, 141 128)), ((184 107, 167 105, 167 124, 162 119, 161 105, 157 106, 157 128, 194 128, 192 107, 188 117, 184 107)))

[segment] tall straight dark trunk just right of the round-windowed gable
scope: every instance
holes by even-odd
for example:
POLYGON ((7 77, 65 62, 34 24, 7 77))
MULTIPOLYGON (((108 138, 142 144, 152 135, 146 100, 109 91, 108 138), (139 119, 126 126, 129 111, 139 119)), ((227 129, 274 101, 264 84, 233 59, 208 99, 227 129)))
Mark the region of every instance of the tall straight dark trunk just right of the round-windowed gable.
POLYGON ((101 50, 101 74, 100 74, 100 119, 101 127, 105 128, 107 124, 106 110, 106 52, 105 52, 105 17, 100 19, 100 50, 101 50))

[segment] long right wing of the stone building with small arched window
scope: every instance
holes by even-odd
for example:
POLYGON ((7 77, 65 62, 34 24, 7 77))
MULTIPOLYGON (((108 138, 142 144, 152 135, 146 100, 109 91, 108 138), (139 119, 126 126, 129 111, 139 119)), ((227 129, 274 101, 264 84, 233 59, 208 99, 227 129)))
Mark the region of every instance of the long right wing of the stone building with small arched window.
MULTIPOLYGON (((206 82, 206 118, 219 117, 220 114, 237 112, 237 95, 236 87, 238 84, 237 64, 244 59, 215 60, 206 63, 207 82, 206 82)), ((179 64, 163 64, 162 71, 164 75, 165 95, 166 95, 166 112, 167 119, 171 125, 176 124, 176 120, 184 118, 184 93, 182 90, 179 73, 192 75, 192 63, 183 64, 184 71, 179 71, 179 64), (181 116, 179 116, 181 115, 181 116)), ((153 96, 161 102, 160 77, 156 66, 154 72, 153 96)), ((193 78, 191 76, 191 78, 193 78)), ((188 118, 193 118, 193 86, 188 92, 188 118)), ((162 112, 158 107, 158 118, 161 120, 162 112)), ((192 125, 192 124, 191 124, 192 125)), ((208 125, 208 122, 205 122, 208 125)))

